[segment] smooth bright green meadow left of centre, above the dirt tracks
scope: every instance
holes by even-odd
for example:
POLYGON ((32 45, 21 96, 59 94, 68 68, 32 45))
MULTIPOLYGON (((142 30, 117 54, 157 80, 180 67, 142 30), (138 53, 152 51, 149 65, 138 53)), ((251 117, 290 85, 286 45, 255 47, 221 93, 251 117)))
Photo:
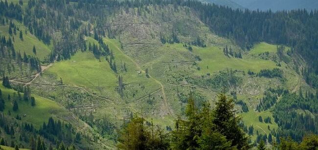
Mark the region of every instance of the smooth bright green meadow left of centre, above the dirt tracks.
POLYGON ((116 86, 117 77, 105 58, 97 60, 91 52, 77 52, 70 60, 55 63, 47 71, 63 84, 77 86, 116 86))

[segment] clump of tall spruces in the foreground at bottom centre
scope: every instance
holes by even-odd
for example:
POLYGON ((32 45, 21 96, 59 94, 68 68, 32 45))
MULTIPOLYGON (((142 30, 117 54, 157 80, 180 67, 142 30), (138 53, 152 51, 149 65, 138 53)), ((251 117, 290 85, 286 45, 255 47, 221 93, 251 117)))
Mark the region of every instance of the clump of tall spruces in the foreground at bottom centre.
POLYGON ((207 102, 198 107, 192 96, 188 99, 185 118, 178 117, 175 130, 164 133, 151 123, 134 117, 122 130, 119 149, 123 150, 246 150, 250 148, 248 137, 239 127, 240 118, 235 117, 234 104, 224 94, 219 95, 216 108, 207 102), (223 112, 223 113, 221 113, 223 112), (170 136, 168 136, 170 135, 170 136), (169 142, 170 141, 170 142, 169 142))

